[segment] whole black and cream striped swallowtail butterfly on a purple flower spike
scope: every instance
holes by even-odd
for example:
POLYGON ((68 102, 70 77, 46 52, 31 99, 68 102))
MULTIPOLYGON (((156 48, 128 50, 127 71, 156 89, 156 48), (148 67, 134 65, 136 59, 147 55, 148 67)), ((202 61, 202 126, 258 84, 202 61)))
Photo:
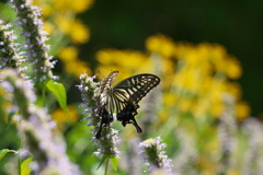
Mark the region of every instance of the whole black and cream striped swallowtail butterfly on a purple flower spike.
POLYGON ((101 82, 96 101, 96 114, 101 117, 101 124, 96 139, 101 138, 102 128, 114 120, 114 112, 124 127, 133 124, 137 132, 141 133, 142 130, 135 119, 139 108, 138 102, 161 81, 155 74, 145 73, 133 75, 112 86, 117 74, 118 71, 112 71, 101 82))

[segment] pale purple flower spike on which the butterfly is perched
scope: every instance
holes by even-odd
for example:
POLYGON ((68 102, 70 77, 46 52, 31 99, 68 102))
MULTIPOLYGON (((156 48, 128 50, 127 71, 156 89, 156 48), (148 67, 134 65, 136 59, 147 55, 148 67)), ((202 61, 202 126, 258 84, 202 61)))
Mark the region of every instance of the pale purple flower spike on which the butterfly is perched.
POLYGON ((101 125, 101 119, 95 113, 96 98, 99 93, 99 83, 94 82, 95 77, 89 77, 88 74, 80 75, 80 85, 78 85, 81 91, 81 97, 83 101, 82 106, 87 107, 85 114, 89 114, 90 117, 87 119, 90 120, 88 126, 94 126, 94 129, 91 129, 93 135, 93 141, 99 147, 98 151, 94 152, 96 156, 103 155, 104 158, 119 158, 119 151, 116 148, 116 143, 119 141, 117 137, 117 130, 108 127, 104 127, 102 130, 102 137, 100 139, 95 138, 95 133, 99 130, 101 125))

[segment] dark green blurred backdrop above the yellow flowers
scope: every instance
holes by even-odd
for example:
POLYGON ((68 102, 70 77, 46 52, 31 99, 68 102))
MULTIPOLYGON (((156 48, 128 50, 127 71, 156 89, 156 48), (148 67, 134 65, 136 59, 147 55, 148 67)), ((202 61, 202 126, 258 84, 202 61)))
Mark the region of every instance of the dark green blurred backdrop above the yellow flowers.
POLYGON ((80 56, 95 60, 95 52, 108 47, 144 50, 146 38, 156 33, 175 42, 218 43, 241 61, 243 74, 238 81, 243 100, 258 116, 263 105, 262 8, 261 0, 94 1, 90 10, 80 14, 91 31, 80 56))

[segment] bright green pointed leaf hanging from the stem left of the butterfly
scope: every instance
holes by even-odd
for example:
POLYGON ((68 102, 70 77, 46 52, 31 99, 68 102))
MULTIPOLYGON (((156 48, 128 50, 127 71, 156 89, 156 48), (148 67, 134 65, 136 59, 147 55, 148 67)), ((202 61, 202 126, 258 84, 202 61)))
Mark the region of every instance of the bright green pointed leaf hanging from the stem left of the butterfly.
POLYGON ((61 83, 57 83, 53 80, 49 80, 46 83, 47 89, 57 97, 59 106, 69 115, 69 110, 67 108, 67 95, 66 89, 61 83))

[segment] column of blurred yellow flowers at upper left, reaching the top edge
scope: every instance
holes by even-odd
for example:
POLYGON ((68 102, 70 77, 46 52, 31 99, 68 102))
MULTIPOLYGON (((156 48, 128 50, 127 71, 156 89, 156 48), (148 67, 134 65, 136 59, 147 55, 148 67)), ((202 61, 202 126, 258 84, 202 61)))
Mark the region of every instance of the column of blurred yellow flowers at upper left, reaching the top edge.
POLYGON ((50 52, 61 59, 67 74, 78 78, 84 71, 91 73, 87 61, 78 58, 77 47, 89 40, 90 30, 77 15, 89 10, 93 0, 37 0, 34 4, 43 9, 44 30, 54 44, 50 52))

